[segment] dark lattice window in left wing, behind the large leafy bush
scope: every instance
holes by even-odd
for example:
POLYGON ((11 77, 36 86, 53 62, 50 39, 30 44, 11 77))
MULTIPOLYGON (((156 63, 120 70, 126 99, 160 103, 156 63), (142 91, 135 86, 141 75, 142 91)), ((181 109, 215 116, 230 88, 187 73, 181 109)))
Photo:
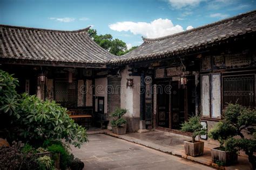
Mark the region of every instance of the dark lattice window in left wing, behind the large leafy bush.
POLYGON ((76 105, 76 82, 56 81, 55 101, 65 107, 75 107, 76 105))

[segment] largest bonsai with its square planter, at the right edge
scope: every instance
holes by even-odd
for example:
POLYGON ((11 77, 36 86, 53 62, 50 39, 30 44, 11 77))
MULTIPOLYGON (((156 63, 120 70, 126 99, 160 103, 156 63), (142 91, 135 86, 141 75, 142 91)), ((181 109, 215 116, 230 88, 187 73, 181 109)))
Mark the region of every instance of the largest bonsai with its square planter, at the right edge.
POLYGON ((255 123, 255 110, 242 107, 237 103, 229 103, 223 112, 223 120, 209 133, 211 138, 220 142, 220 147, 212 150, 213 161, 220 161, 224 165, 230 165, 237 162, 236 151, 244 150, 250 157, 249 160, 253 162, 255 138, 252 134, 255 132, 255 123), (245 138, 245 133, 247 133, 247 139, 245 138), (240 136, 240 138, 234 139, 234 136, 240 136))

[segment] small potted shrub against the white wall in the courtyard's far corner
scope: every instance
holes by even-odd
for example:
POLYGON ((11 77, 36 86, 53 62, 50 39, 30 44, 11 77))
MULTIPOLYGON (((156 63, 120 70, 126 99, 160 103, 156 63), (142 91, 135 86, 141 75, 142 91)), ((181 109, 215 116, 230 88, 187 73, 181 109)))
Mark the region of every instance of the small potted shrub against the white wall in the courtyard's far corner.
POLYGON ((127 112, 126 109, 117 108, 112 113, 111 121, 112 131, 115 134, 125 134, 126 133, 126 120, 123 118, 124 114, 127 112))

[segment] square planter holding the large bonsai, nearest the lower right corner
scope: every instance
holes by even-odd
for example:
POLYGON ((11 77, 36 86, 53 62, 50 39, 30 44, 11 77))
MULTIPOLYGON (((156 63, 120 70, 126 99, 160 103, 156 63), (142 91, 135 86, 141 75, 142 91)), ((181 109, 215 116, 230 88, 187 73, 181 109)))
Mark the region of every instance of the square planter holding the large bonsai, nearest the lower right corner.
POLYGON ((237 163, 238 154, 236 152, 221 151, 220 147, 211 149, 212 161, 218 162, 222 165, 233 165, 237 163))

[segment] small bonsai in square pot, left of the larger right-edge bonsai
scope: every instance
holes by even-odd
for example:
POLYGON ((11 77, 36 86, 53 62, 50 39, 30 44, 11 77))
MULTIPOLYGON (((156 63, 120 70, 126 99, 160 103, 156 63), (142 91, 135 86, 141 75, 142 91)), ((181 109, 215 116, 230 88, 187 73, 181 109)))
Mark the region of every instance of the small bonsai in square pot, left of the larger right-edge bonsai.
POLYGON ((184 141, 185 154, 192 157, 203 155, 204 142, 200 139, 197 141, 196 137, 206 134, 207 130, 201 125, 200 116, 193 116, 187 122, 181 124, 181 131, 192 132, 192 141, 184 141))

